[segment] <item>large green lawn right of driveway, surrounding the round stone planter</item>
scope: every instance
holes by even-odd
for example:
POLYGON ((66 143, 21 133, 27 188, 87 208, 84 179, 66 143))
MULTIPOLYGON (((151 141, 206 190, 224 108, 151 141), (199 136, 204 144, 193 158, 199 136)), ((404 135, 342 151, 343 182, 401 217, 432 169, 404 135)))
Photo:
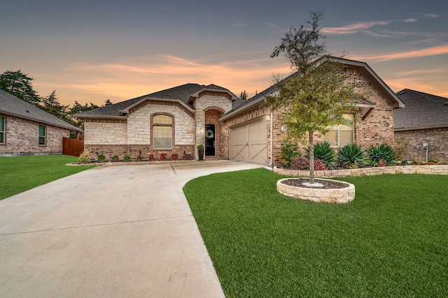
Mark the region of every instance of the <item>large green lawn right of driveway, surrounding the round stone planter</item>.
POLYGON ((448 176, 342 179, 349 204, 295 200, 269 170, 184 187, 227 297, 447 297, 448 176))

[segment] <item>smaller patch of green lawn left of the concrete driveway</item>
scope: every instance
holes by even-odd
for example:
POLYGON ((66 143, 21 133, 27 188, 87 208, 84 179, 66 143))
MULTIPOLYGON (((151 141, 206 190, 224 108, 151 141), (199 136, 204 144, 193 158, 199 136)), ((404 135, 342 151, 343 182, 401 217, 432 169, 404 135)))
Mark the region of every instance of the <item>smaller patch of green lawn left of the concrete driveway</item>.
POLYGON ((69 167, 78 158, 66 155, 0 157, 0 200, 92 166, 69 167))

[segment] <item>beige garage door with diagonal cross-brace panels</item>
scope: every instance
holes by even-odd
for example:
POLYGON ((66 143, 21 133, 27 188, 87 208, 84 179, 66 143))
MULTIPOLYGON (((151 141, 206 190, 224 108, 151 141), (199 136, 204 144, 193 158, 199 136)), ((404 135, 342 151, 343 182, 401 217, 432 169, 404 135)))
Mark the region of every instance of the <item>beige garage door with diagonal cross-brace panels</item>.
POLYGON ((230 128, 230 159, 249 163, 267 163, 265 118, 230 128))

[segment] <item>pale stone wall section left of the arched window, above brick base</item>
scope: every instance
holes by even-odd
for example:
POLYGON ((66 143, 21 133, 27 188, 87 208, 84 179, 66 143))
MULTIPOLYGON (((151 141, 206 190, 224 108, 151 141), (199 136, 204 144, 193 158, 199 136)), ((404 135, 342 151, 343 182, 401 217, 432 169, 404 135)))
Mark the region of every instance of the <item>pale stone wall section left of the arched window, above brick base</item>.
POLYGON ((127 144, 127 121, 85 119, 84 145, 86 144, 127 144))

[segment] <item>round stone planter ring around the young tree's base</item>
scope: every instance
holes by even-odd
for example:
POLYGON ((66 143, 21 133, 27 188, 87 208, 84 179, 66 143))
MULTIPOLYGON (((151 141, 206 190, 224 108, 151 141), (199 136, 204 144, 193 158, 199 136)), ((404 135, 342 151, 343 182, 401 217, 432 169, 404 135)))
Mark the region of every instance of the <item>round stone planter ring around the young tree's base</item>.
MULTIPOLYGON (((344 184, 348 184, 344 188, 307 188, 300 186, 290 186, 281 183, 283 180, 289 180, 291 178, 284 178, 277 181, 277 191, 282 195, 287 195, 288 197, 312 201, 321 203, 336 203, 344 204, 353 201, 355 198, 355 186, 344 181, 344 184)), ((329 179, 316 179, 319 180, 329 180, 329 179)))

